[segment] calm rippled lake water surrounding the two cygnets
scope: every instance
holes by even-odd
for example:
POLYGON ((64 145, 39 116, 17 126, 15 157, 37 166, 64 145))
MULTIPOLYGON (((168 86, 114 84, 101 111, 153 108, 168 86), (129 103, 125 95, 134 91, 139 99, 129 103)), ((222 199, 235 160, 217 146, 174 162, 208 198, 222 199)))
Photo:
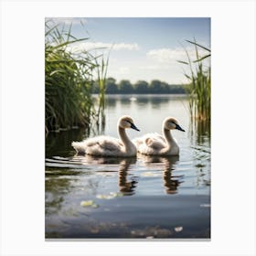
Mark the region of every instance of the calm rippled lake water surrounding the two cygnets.
POLYGON ((49 133, 46 138, 47 239, 210 239, 210 125, 191 123, 181 95, 112 95, 103 128, 49 133), (72 141, 103 133, 133 117, 141 130, 161 133, 167 116, 180 155, 133 158, 77 156, 72 141))

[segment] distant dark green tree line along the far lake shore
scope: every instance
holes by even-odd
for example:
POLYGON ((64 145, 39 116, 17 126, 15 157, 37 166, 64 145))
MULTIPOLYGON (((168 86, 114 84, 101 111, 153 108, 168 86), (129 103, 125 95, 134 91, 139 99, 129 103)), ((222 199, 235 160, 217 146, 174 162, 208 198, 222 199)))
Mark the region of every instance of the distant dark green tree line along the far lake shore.
MULTIPOLYGON (((99 93, 99 84, 94 83, 93 93, 99 93)), ((107 94, 181 94, 185 93, 185 85, 168 84, 161 80, 138 80, 132 84, 129 80, 121 80, 119 83, 113 78, 106 79, 105 92, 107 94)))

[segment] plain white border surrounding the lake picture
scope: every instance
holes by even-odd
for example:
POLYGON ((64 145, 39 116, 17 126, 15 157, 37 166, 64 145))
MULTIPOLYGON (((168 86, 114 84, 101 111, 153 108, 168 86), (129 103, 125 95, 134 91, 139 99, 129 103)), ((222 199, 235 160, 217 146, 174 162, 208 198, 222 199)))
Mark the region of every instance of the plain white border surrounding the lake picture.
POLYGON ((2 1, 0 254, 255 255, 255 31, 253 0, 2 1), (46 16, 211 17, 211 241, 45 241, 46 16))

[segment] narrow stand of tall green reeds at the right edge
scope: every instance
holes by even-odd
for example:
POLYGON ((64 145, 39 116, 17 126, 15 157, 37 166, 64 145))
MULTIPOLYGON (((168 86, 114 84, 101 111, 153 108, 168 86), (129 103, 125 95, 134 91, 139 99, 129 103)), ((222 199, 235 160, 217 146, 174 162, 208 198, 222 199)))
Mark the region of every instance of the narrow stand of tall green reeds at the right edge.
POLYGON ((204 67, 203 60, 210 57, 210 49, 197 44, 194 41, 187 40, 188 43, 194 45, 196 59, 191 60, 186 48, 187 61, 178 60, 179 63, 185 64, 189 67, 189 73, 185 73, 187 80, 187 92, 189 95, 189 112, 191 118, 197 120, 210 120, 210 105, 211 105, 211 77, 210 65, 204 67), (199 56, 198 48, 207 52, 202 57, 199 56))

